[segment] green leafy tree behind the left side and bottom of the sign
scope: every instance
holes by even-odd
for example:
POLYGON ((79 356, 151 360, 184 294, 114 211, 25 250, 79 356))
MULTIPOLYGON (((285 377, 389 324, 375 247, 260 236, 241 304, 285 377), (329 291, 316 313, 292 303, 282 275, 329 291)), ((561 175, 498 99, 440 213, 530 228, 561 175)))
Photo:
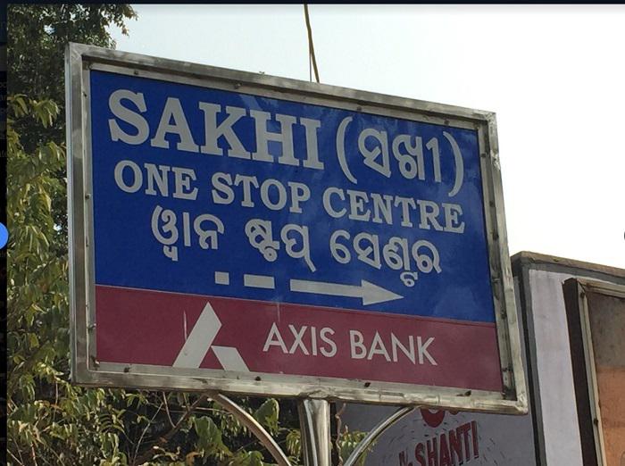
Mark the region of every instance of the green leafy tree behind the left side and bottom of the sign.
MULTIPOLYGON (((136 17, 124 4, 8 7, 8 462, 266 464, 262 445, 205 395, 69 383, 63 53, 70 41, 114 48, 107 28, 126 33, 136 17)), ((237 401, 297 463, 295 404, 237 401)), ((346 456, 359 434, 338 437, 346 456)))

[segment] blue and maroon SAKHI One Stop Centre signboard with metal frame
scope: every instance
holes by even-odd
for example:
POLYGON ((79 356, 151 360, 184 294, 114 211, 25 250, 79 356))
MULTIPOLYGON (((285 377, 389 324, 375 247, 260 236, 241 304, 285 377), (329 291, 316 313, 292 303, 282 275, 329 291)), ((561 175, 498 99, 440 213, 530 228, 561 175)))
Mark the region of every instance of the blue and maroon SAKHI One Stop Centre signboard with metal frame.
POLYGON ((77 382, 526 409, 491 113, 67 57, 77 382))

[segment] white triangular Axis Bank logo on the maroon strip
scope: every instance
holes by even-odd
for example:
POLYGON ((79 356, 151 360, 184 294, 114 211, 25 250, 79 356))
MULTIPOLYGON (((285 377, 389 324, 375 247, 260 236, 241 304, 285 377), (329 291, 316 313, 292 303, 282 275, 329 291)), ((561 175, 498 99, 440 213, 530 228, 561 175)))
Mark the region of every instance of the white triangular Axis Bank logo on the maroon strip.
MULTIPOLYGON (((173 367, 197 369, 202 361, 217 333, 221 329, 221 321, 212 309, 208 301, 196 321, 196 325, 191 329, 191 333, 186 337, 185 344, 180 348, 180 352, 173 362, 173 367)), ((212 353, 217 356, 221 367, 225 370, 247 371, 246 362, 243 361, 237 348, 230 346, 212 346, 212 353)))

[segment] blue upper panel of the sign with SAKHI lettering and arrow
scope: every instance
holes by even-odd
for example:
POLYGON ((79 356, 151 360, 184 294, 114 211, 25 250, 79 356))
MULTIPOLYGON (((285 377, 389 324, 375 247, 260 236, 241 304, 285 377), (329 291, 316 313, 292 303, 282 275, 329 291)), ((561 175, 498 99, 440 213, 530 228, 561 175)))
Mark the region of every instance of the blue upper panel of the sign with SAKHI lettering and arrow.
POLYGON ((104 71, 90 90, 97 285, 495 321, 476 130, 104 71))

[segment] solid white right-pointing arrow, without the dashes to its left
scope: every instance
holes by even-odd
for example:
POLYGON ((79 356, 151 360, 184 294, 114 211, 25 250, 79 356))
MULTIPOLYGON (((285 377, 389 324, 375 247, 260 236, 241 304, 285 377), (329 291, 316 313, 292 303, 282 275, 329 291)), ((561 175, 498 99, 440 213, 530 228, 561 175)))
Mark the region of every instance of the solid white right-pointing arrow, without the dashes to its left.
POLYGON ((396 295, 378 285, 373 285, 367 280, 360 280, 358 285, 341 285, 339 283, 327 283, 324 281, 291 280, 291 291, 300 293, 312 293, 315 295, 332 295, 362 298, 363 305, 385 303, 404 296, 396 295))

